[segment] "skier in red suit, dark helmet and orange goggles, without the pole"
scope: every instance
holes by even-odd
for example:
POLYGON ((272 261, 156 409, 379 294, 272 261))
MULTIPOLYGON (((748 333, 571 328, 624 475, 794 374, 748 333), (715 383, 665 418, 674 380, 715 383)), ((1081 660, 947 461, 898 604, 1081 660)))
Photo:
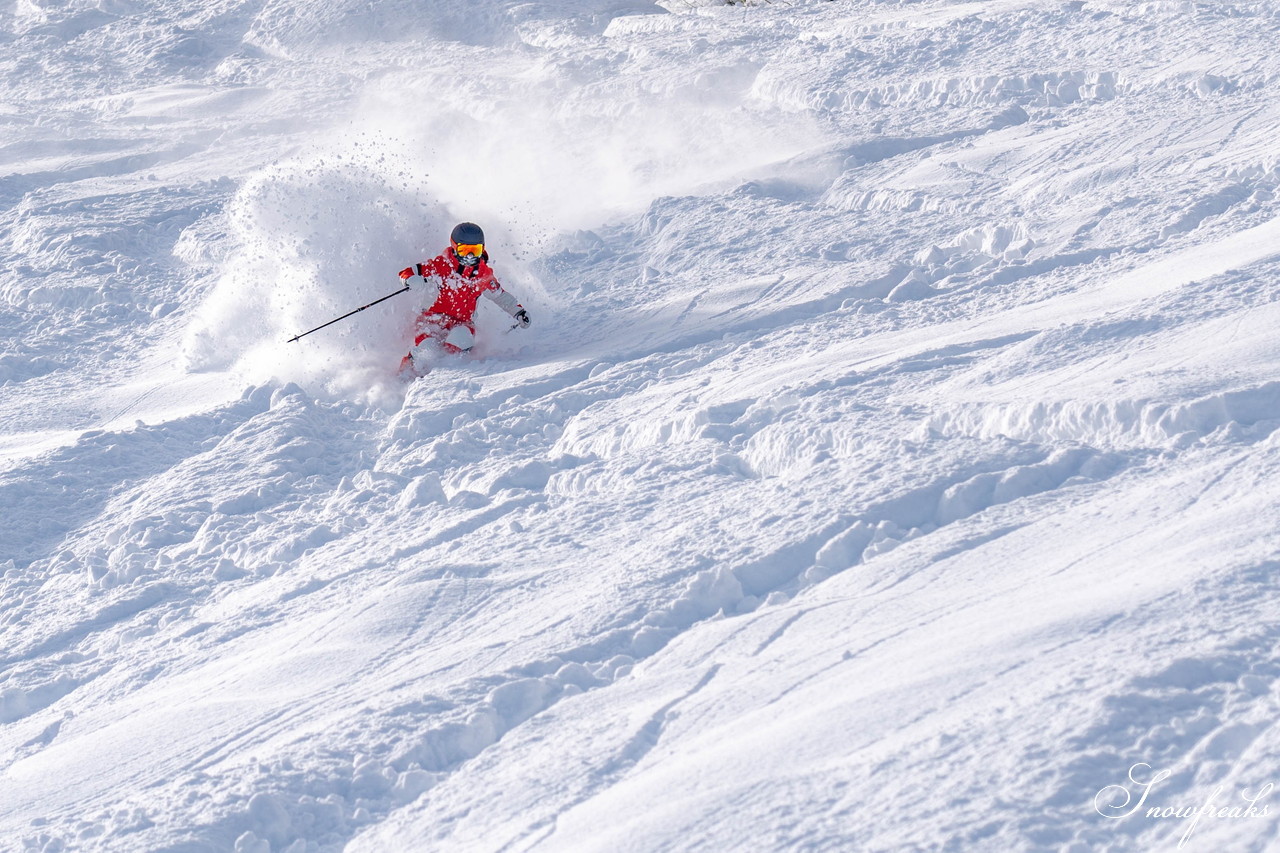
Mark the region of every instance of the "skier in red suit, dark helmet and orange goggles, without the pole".
POLYGON ((495 302, 521 327, 529 325, 529 313, 493 277, 489 252, 484 248, 480 225, 463 222, 449 234, 449 247, 425 264, 401 270, 401 279, 421 275, 426 283, 428 307, 417 318, 413 350, 401 359, 401 374, 430 369, 424 343, 444 352, 466 352, 475 343, 476 301, 481 295, 495 302), (419 352, 415 361, 413 352, 419 352))

